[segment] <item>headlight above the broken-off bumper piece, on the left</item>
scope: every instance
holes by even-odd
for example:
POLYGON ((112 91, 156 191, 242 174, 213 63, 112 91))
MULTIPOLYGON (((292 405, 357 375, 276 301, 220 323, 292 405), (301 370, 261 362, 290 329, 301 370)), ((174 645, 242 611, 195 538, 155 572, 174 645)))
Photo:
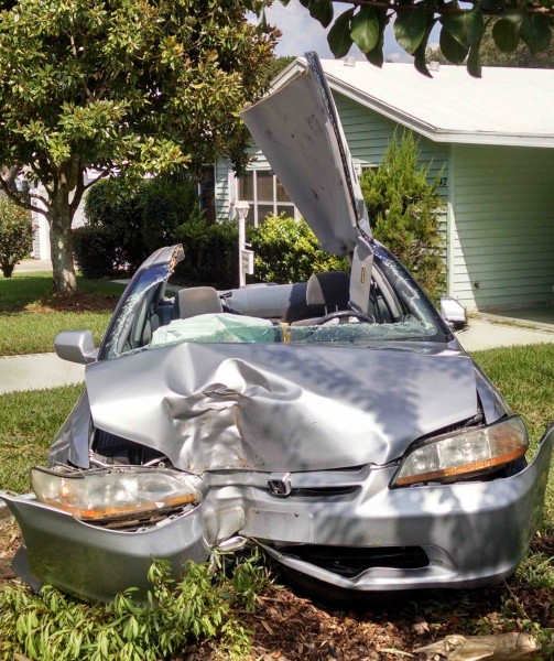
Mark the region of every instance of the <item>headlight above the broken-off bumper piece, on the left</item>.
POLYGON ((31 470, 37 500, 84 521, 149 514, 200 499, 192 478, 174 470, 118 468, 94 470, 31 470))

